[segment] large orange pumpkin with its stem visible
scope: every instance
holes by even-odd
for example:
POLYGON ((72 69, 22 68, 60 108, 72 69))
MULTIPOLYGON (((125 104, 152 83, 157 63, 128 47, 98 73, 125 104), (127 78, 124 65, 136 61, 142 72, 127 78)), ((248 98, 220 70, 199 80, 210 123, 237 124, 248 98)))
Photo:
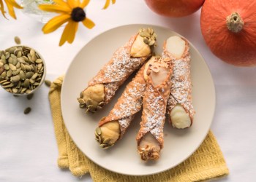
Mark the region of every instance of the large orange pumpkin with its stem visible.
POLYGON ((218 58, 235 66, 256 66, 255 0, 206 0, 200 26, 218 58))

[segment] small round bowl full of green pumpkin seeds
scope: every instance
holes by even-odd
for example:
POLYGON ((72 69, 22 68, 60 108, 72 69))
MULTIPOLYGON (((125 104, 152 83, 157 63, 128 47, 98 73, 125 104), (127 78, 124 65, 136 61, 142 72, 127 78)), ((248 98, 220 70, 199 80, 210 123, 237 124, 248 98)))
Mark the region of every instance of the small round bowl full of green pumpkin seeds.
POLYGON ((13 95, 34 93, 45 81, 45 60, 31 47, 17 45, 0 51, 0 85, 13 95))

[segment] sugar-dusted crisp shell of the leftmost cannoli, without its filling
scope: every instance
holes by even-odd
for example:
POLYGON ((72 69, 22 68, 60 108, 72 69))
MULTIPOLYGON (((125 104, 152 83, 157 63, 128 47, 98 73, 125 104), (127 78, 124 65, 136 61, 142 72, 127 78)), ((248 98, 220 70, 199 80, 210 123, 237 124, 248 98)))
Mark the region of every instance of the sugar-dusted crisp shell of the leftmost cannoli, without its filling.
POLYGON ((132 36, 124 46, 119 47, 110 61, 89 82, 89 87, 94 84, 104 84, 104 105, 109 103, 110 99, 115 95, 116 90, 118 90, 118 87, 124 83, 128 76, 140 68, 150 56, 148 55, 142 58, 132 58, 130 56, 132 44, 137 36, 138 33, 132 36))

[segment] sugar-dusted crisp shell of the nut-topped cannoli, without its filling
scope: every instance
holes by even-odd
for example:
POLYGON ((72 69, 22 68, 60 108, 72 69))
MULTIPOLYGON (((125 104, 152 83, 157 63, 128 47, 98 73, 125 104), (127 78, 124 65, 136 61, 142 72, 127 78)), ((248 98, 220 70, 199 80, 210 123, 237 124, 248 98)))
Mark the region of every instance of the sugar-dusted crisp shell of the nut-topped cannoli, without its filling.
POLYGON ((154 86, 151 75, 148 76, 146 91, 143 98, 142 120, 136 138, 138 146, 140 145, 141 138, 143 138, 147 132, 151 132, 159 142, 160 148, 162 149, 163 147, 163 127, 165 123, 166 104, 171 87, 171 74, 172 71, 170 68, 165 81, 162 82, 162 84, 157 85, 157 87, 154 86))

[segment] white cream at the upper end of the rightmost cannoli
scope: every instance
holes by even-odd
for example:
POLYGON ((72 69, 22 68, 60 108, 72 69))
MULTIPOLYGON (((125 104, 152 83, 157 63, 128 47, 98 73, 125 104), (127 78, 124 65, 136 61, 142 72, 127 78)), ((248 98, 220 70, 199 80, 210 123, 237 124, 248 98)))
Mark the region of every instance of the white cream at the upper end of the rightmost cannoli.
POLYGON ((170 36, 166 41, 166 49, 170 54, 179 59, 186 48, 186 42, 179 36, 170 36))

